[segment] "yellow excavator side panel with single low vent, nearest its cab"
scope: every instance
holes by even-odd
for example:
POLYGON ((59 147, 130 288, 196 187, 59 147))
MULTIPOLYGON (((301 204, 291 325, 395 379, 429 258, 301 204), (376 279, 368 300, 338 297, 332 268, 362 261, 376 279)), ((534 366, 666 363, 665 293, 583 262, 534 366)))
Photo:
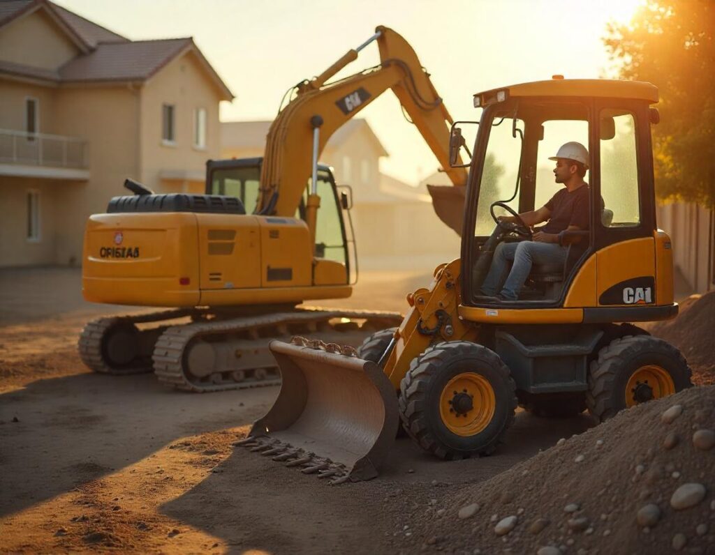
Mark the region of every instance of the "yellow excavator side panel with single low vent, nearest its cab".
POLYGON ((261 286, 300 287, 312 283, 310 231, 305 221, 257 217, 261 237, 261 286))

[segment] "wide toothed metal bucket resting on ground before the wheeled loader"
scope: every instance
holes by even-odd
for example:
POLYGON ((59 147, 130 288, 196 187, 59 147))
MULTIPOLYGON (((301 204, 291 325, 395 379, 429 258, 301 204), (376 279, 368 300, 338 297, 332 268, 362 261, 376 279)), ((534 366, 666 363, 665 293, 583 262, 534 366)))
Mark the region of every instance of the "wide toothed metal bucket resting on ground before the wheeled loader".
POLYGON ((395 389, 355 349, 294 338, 271 341, 280 394, 242 443, 331 483, 374 478, 395 441, 395 389))

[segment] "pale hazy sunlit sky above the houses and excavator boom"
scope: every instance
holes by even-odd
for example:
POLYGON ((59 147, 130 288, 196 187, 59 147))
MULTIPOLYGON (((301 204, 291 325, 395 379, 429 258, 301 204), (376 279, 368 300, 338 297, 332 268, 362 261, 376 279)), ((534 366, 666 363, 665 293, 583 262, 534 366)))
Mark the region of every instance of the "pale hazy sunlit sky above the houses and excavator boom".
MULTIPOLYGON (((193 36, 236 99, 222 121, 273 119, 285 91, 320 74, 375 26, 407 39, 455 119, 475 119, 472 95, 506 84, 605 76, 608 21, 641 0, 53 0, 132 40, 193 36)), ((379 61, 363 50, 340 76, 379 61)), ((388 92, 360 112, 390 156, 381 169, 416 184, 437 169, 388 92)))

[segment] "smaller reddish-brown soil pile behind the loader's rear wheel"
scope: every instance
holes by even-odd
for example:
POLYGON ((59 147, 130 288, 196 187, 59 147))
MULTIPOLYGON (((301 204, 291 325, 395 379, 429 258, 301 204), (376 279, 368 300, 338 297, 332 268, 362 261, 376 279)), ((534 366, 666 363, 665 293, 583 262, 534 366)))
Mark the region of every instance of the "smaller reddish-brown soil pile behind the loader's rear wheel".
POLYGON ((696 383, 715 384, 715 291, 689 296, 676 319, 656 322, 649 331, 681 350, 696 383))

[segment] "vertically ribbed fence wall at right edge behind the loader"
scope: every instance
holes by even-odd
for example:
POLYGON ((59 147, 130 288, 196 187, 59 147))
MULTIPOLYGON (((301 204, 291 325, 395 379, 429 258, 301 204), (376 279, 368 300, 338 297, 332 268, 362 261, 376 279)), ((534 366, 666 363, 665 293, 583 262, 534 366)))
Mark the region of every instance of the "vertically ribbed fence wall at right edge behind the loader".
POLYGON ((676 275, 686 281, 676 284, 682 293, 715 289, 715 216, 702 206, 674 203, 658 206, 658 226, 671 236, 676 275))

